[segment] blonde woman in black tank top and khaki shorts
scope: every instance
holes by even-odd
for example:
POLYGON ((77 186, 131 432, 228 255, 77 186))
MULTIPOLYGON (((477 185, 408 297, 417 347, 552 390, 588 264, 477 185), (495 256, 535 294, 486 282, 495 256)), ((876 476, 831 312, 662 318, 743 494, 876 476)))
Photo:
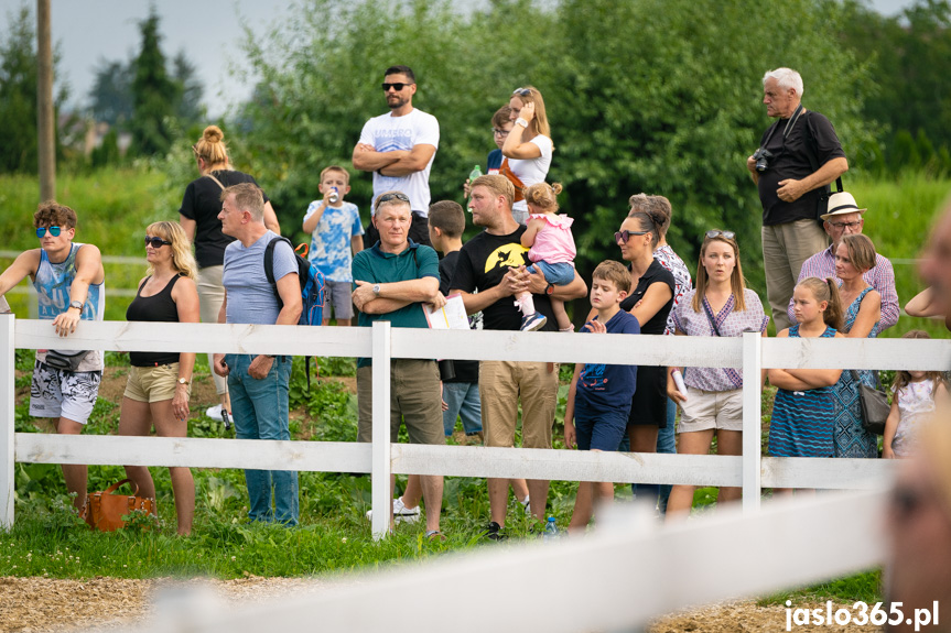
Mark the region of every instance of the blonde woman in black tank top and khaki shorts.
MULTIPOLYGON (((198 323, 195 259, 185 231, 174 222, 154 222, 145 229, 149 275, 139 282, 136 298, 126 310, 130 321, 198 323)), ((147 436, 155 427, 160 437, 186 437, 192 389, 193 352, 129 352, 129 380, 122 397, 119 435, 147 436)), ((170 468, 179 534, 192 532, 195 482, 187 468, 170 468)), ((155 484, 144 466, 127 466, 126 476, 139 495, 155 499, 155 484)), ((153 505, 154 506, 154 505, 153 505)))

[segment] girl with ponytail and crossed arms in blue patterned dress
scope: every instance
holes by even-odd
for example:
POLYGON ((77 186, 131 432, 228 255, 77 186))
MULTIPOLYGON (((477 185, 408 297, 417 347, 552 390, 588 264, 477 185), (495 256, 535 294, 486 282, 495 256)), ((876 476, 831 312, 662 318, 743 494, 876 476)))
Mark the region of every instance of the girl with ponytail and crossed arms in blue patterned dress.
MULTIPOLYGON (((832 280, 807 277, 792 293, 798 321, 777 338, 842 337, 839 288, 832 280)), ((778 386, 769 425, 769 455, 774 457, 832 457, 832 386, 840 369, 770 369, 769 382, 778 386)))

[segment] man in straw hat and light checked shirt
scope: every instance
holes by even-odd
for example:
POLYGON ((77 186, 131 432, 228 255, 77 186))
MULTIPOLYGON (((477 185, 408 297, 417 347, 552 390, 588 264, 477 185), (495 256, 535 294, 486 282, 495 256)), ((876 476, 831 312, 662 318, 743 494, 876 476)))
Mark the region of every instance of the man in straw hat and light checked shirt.
MULTIPOLYGON (((860 209, 852 194, 839 192, 829 196, 829 212, 822 215, 822 227, 832 239, 832 245, 823 249, 806 260, 799 271, 796 283, 806 277, 832 277, 835 281, 835 249, 842 243, 842 238, 861 233, 865 225, 862 217, 868 209, 860 209)), ((895 290, 895 271, 891 262, 882 253, 875 253, 875 266, 867 270, 863 279, 882 295, 882 329, 889 328, 898 323, 898 293, 895 290)), ((789 320, 796 323, 792 316, 792 299, 789 299, 787 308, 789 320)))

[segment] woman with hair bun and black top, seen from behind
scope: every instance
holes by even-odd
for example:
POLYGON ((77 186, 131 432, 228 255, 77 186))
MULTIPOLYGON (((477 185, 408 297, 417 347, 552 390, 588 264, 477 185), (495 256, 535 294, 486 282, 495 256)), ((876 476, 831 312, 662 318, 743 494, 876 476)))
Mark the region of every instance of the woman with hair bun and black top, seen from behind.
MULTIPOLYGON (((235 240, 221 232, 221 220, 218 219, 218 212, 221 210, 221 192, 225 187, 239 183, 258 184, 253 176, 231 168, 224 138, 225 134, 220 128, 208 125, 198 142, 192 145, 192 153, 201 176, 185 187, 182 208, 179 209, 179 222, 185 229, 187 238, 195 244, 195 259, 198 262, 198 298, 204 323, 218 323, 218 312, 225 301, 225 287, 221 285, 225 247, 235 240)), ((281 233, 281 226, 267 195, 264 195, 264 225, 275 233, 281 233)), ((208 354, 208 367, 212 364, 212 354, 208 354)), ((231 411, 228 381, 215 372, 212 372, 212 376, 215 379, 215 391, 221 404, 208 410, 208 414, 215 419, 221 419, 221 412, 227 415, 231 411)))

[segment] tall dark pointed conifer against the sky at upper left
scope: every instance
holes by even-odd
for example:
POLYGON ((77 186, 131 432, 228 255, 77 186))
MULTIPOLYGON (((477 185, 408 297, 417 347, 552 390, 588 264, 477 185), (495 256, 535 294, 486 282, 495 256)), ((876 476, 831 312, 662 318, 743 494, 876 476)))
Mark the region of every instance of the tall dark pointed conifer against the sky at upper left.
POLYGON ((175 116, 182 86, 169 76, 159 35, 159 15, 154 7, 139 23, 142 45, 132 61, 133 146, 141 154, 164 153, 172 141, 170 119, 175 116))

